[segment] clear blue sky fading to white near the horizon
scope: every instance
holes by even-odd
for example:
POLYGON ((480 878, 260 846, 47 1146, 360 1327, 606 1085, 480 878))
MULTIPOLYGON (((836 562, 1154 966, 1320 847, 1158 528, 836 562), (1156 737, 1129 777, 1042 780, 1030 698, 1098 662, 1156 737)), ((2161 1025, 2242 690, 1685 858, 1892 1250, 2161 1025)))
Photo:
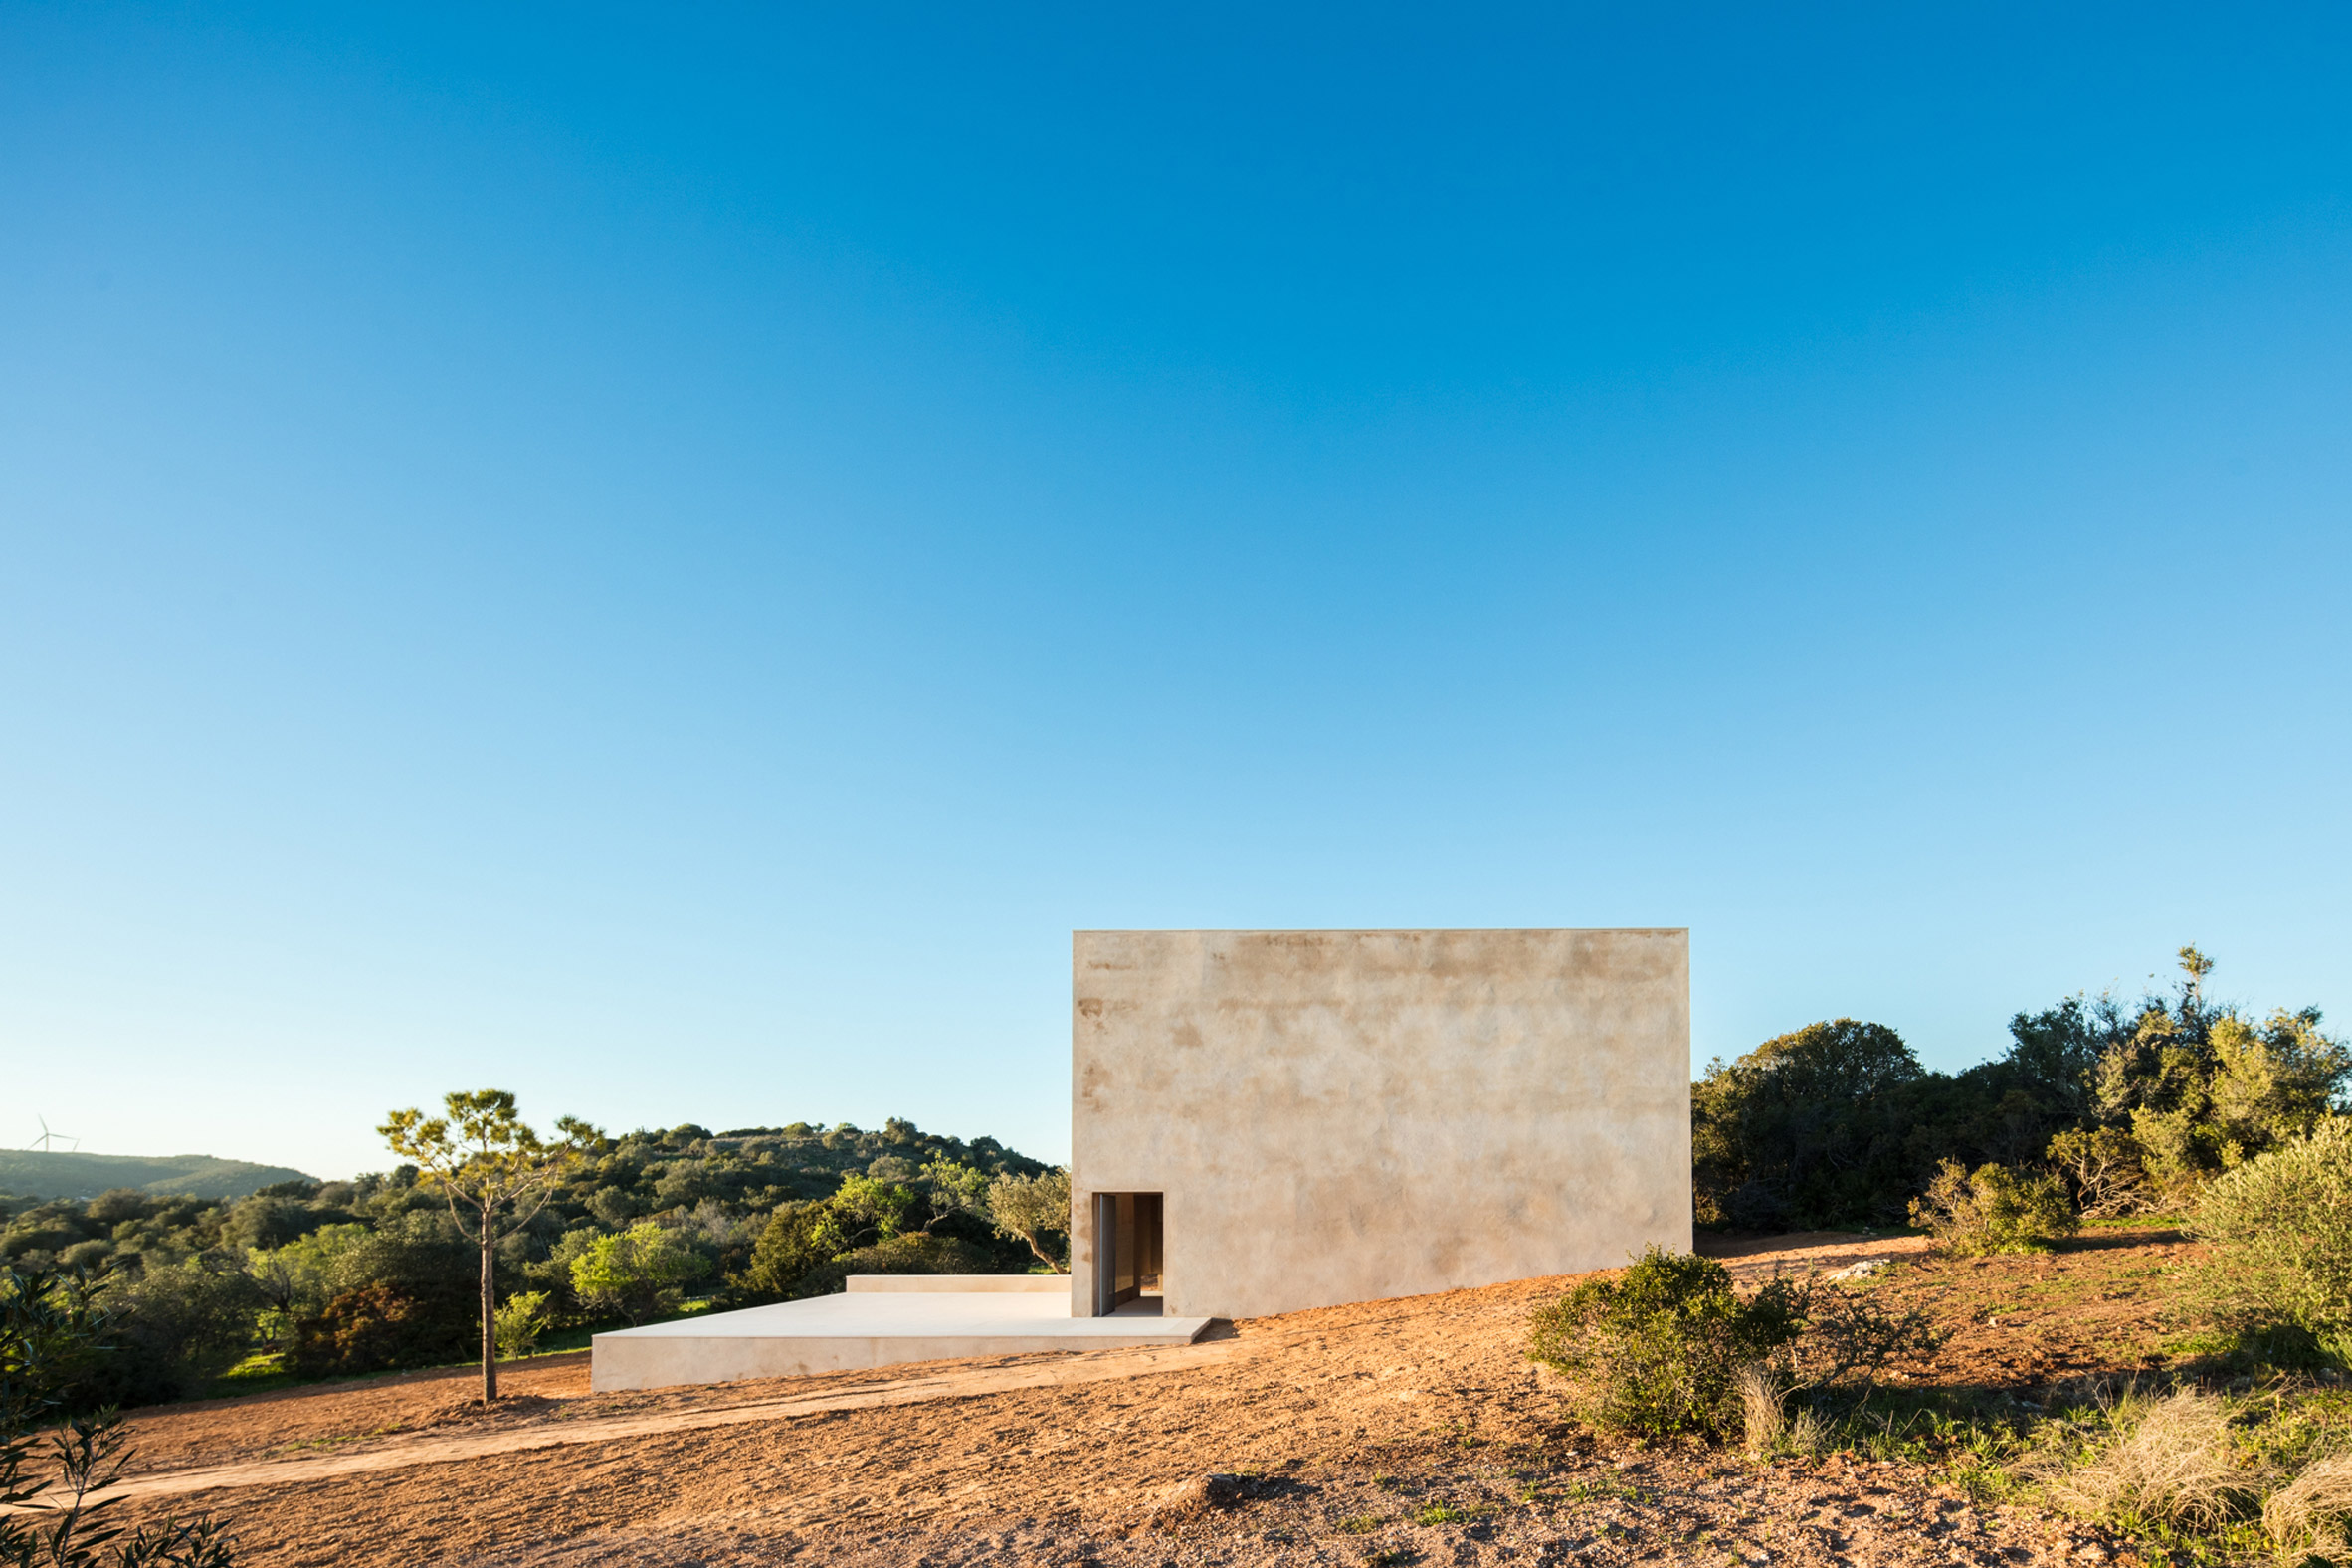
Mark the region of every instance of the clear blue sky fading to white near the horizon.
POLYGON ((2343 7, 0 5, 0 1143, 1068 1152, 1082 926, 2352 1025, 2343 7))

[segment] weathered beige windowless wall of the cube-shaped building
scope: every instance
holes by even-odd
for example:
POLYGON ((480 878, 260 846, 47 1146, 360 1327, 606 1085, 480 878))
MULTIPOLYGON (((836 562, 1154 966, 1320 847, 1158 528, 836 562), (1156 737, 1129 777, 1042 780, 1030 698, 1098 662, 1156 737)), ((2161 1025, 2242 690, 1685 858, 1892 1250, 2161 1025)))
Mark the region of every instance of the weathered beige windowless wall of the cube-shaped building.
POLYGON ((1686 931, 1080 931, 1070 1302, 1162 1192, 1167 1312, 1261 1316, 1691 1246, 1686 931))

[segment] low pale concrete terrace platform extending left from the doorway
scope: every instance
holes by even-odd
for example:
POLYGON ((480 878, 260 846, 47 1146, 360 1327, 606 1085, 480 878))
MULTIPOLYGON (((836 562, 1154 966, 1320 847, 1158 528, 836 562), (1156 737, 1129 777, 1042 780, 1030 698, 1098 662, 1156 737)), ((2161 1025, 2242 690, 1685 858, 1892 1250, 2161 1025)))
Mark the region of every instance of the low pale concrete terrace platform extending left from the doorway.
POLYGON ((1070 1316, 1068 1274, 854 1274, 847 1295, 621 1328, 590 1340, 588 1387, 807 1378, 901 1361, 1190 1345, 1204 1316, 1070 1316))

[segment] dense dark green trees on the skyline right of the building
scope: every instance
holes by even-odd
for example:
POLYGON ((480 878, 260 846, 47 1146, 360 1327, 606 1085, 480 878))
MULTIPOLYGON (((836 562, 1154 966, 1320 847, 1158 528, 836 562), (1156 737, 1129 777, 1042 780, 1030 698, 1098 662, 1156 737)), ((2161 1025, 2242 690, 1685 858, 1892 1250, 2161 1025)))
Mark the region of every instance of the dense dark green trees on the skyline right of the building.
POLYGON ((1945 1161, 2049 1168, 2086 1215, 2178 1208, 2331 1114, 2352 1051, 2319 1009, 2256 1018, 2204 994, 2180 952, 2171 994, 2067 997, 2009 1023, 1957 1074, 1903 1037, 1839 1018, 1708 1063, 1691 1091, 1700 1225, 1900 1225, 1945 1161))

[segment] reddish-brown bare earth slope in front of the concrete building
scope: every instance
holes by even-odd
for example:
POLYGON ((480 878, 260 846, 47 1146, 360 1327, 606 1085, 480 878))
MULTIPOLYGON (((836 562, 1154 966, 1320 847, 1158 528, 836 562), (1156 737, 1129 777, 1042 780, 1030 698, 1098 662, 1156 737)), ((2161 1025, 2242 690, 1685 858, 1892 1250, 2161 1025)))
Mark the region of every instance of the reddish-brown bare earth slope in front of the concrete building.
MULTIPOLYGON (((1903 1382, 2011 1389, 2159 1368, 2169 1232, 2051 1258, 1915 1239, 1719 1244, 1886 1267, 1947 1328, 1903 1382)), ((1522 1356, 1564 1279, 1244 1321, 1150 1352, 590 1394, 586 1356, 139 1418, 139 1512, 212 1509, 252 1568, 308 1563, 2098 1563, 2112 1540, 1849 1458, 1752 1465, 1569 1420, 1522 1356)))

